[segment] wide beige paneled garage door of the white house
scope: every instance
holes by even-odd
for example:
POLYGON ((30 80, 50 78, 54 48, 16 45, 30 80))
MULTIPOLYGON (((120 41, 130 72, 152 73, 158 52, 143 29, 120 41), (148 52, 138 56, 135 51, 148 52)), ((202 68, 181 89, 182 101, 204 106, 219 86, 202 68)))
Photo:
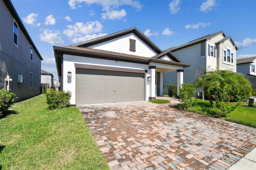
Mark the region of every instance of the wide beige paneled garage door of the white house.
POLYGON ((76 104, 144 101, 144 73, 76 68, 76 104))

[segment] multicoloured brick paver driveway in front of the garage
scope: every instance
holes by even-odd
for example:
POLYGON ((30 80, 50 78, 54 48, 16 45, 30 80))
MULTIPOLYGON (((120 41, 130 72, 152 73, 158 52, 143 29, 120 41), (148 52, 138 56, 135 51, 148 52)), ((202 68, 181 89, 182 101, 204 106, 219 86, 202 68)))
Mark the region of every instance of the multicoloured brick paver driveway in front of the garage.
POLYGON ((112 170, 221 169, 256 146, 256 128, 150 102, 78 106, 112 170))

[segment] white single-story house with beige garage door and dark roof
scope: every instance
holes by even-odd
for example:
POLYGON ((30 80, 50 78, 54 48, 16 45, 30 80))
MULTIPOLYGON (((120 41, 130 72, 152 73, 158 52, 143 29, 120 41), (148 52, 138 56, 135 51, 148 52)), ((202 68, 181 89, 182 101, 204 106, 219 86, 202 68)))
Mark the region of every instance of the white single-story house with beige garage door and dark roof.
POLYGON ((176 71, 176 84, 183 83, 189 66, 136 28, 54 46, 54 55, 61 89, 72 93, 72 105, 156 99, 163 95, 164 72, 176 71))

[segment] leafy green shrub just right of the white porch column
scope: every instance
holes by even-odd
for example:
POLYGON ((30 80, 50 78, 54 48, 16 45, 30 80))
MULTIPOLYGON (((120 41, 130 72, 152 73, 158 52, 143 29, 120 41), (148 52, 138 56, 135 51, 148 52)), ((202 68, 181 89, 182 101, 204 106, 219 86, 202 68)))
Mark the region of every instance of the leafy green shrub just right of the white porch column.
POLYGON ((180 107, 182 109, 188 109, 192 107, 196 103, 196 99, 193 99, 195 95, 195 87, 193 84, 182 84, 182 87, 180 85, 179 98, 182 102, 182 105, 180 105, 180 107))

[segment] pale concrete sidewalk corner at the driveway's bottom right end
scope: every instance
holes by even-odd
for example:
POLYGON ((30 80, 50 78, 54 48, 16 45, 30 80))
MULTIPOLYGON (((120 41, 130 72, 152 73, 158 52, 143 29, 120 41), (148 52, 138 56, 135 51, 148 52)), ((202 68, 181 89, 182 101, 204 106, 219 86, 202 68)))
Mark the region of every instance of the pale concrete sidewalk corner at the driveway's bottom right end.
POLYGON ((256 169, 256 148, 230 166, 228 170, 255 170, 256 169))

